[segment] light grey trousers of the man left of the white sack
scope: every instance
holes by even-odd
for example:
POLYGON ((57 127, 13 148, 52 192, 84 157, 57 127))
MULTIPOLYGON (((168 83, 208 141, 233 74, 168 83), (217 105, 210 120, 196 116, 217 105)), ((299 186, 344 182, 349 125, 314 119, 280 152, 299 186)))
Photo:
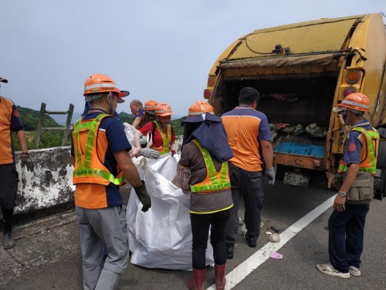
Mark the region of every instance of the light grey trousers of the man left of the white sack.
POLYGON ((84 290, 113 290, 127 267, 129 249, 122 205, 104 209, 76 206, 83 261, 84 290), (102 267, 103 248, 108 257, 102 267))

